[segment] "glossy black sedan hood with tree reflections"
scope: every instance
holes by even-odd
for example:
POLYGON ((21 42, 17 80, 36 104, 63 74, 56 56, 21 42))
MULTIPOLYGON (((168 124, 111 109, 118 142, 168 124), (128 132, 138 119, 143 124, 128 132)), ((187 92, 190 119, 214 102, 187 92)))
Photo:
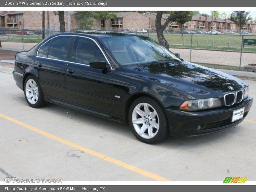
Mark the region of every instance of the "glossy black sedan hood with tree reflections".
POLYGON ((186 93, 212 94, 240 90, 247 84, 226 73, 187 61, 122 66, 124 72, 148 78, 186 93), (230 90, 232 86, 234 90, 230 90))

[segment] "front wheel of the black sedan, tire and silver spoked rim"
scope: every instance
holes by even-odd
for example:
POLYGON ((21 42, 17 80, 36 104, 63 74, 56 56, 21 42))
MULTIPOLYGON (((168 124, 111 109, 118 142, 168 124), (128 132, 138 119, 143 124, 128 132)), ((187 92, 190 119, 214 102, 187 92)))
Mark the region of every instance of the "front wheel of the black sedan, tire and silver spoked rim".
POLYGON ((129 124, 135 137, 148 144, 163 141, 169 132, 164 109, 149 97, 133 101, 129 109, 129 124))

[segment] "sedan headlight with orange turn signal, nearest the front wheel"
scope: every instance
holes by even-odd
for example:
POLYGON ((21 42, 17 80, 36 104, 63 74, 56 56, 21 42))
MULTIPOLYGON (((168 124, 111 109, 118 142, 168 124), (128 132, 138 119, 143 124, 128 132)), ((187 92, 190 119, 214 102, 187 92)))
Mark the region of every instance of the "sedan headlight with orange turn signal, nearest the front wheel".
POLYGON ((221 107, 221 102, 218 98, 187 100, 180 105, 182 110, 203 110, 209 108, 221 107))

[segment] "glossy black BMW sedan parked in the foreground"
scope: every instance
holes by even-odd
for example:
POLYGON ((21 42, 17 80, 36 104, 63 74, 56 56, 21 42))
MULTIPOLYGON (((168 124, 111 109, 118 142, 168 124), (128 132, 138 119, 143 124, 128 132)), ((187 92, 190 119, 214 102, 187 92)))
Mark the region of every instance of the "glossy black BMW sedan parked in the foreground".
POLYGON ((33 108, 50 102, 127 123, 149 144, 234 127, 253 102, 244 81, 132 33, 52 35, 16 54, 13 78, 33 108))

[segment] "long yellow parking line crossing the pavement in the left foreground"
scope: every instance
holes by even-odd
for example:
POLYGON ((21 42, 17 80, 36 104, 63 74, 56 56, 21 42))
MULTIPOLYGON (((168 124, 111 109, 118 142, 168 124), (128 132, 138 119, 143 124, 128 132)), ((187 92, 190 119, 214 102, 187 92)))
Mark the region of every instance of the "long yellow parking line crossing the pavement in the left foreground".
POLYGON ((42 135, 44 135, 44 136, 46 136, 46 137, 48 137, 48 138, 51 138, 51 139, 56 140, 56 141, 59 141, 59 142, 65 144, 65 145, 68 145, 68 146, 70 146, 70 147, 73 147, 73 148, 76 148, 76 149, 78 149, 78 150, 84 151, 85 153, 88 153, 88 154, 90 154, 90 155, 92 155, 92 156, 96 156, 96 157, 98 157, 98 158, 100 158, 100 159, 103 159, 103 160, 105 160, 105 161, 108 161, 108 162, 110 162, 110 163, 119 165, 120 167, 123 167, 123 168, 125 168, 125 169, 128 169, 128 170, 131 170, 131 171, 133 171, 133 172, 139 173, 139 174, 141 174, 141 175, 143 175, 143 176, 146 176, 146 177, 148 177, 148 178, 150 178, 150 179, 157 180, 157 181, 170 181, 170 180, 168 180, 168 179, 166 179, 166 178, 164 178, 164 177, 161 177, 161 176, 159 176, 159 175, 156 175, 156 174, 154 174, 154 173, 145 171, 145 170, 140 169, 140 168, 138 168, 138 167, 132 166, 132 165, 130 165, 130 164, 124 163, 124 162, 119 161, 119 160, 117 160, 117 159, 111 158, 111 157, 106 156, 106 155, 104 155, 104 154, 98 153, 98 152, 93 151, 93 150, 91 150, 91 149, 85 148, 85 147, 83 147, 83 146, 80 146, 80 145, 77 145, 77 144, 75 144, 75 143, 72 143, 72 142, 70 142, 70 141, 68 141, 68 140, 62 139, 62 138, 57 137, 57 136, 55 136, 55 135, 52 135, 51 133, 48 133, 48 132, 45 132, 45 131, 43 131, 43 130, 37 129, 37 128, 31 126, 31 125, 28 125, 28 124, 25 124, 25 123, 23 123, 23 122, 21 122, 21 121, 18 121, 18 120, 16 120, 16 119, 13 119, 12 117, 3 115, 3 114, 1 114, 1 113, 0 113, 0 117, 6 119, 6 120, 8 120, 8 121, 11 121, 11 122, 13 122, 13 123, 16 123, 16 124, 18 124, 18 125, 21 125, 22 127, 25 127, 25 128, 27 128, 27 129, 30 129, 30 130, 32 130, 32 131, 34 131, 34 132, 40 133, 40 134, 42 134, 42 135))

